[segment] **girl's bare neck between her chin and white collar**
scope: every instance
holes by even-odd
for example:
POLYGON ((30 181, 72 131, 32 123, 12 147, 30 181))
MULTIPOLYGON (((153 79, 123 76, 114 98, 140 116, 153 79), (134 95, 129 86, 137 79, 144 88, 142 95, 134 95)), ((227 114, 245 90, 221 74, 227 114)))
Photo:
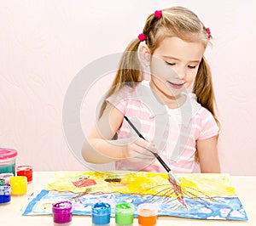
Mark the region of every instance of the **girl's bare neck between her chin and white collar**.
POLYGON ((158 88, 152 81, 149 82, 149 86, 153 91, 156 99, 158 99, 160 103, 162 103, 163 105, 166 105, 170 109, 176 109, 181 107, 187 99, 186 95, 183 93, 180 93, 175 97, 167 95, 166 93, 163 93, 160 90, 160 88, 158 88))

